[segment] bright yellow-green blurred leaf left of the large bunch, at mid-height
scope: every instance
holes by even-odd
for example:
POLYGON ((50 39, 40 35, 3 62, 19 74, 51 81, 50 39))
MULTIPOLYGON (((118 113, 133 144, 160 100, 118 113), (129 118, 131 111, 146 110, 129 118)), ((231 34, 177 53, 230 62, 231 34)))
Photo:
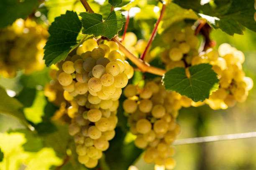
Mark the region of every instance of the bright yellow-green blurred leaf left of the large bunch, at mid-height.
POLYGON ((44 96, 44 91, 36 91, 36 98, 33 101, 31 107, 25 107, 23 112, 27 120, 38 124, 42 122, 42 116, 44 116, 44 107, 46 105, 46 97, 44 96))

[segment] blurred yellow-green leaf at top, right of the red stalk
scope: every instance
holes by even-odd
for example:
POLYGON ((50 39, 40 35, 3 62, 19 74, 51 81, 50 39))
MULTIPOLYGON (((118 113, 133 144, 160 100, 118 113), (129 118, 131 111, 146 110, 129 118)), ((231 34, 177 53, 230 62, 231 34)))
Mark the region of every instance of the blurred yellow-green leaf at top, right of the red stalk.
POLYGON ((187 10, 175 3, 168 3, 164 11, 158 32, 162 32, 163 30, 169 28, 173 23, 177 23, 184 19, 197 20, 198 16, 191 9, 187 10))

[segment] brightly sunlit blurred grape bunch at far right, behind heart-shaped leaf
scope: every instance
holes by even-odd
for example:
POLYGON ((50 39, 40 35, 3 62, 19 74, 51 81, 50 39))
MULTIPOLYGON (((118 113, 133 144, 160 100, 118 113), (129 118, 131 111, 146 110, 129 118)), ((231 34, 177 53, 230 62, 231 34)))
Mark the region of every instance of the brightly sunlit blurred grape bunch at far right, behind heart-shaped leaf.
POLYGON ((210 63, 218 74, 219 89, 205 100, 212 109, 226 109, 246 100, 253 80, 243 72, 244 59, 243 52, 227 43, 220 45, 218 51, 208 49, 192 59, 192 65, 210 63))

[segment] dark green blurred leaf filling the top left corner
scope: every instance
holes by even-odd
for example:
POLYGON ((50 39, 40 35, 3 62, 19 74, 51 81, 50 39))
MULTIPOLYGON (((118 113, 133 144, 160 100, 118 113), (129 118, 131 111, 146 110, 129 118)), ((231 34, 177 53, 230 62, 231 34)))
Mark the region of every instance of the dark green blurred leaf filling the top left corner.
POLYGON ((38 7, 38 0, 1 0, 0 28, 11 25, 16 19, 25 19, 38 7))

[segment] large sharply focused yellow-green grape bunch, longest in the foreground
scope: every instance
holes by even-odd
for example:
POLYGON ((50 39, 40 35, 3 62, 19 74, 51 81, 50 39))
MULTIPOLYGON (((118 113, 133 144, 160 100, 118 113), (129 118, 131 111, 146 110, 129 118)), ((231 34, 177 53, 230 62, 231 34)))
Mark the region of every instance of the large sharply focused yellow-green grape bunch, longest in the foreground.
POLYGON ((69 134, 74 136, 78 161, 94 168, 115 136, 118 99, 133 67, 116 42, 98 45, 94 39, 85 40, 58 67, 56 77, 69 102, 69 134))

